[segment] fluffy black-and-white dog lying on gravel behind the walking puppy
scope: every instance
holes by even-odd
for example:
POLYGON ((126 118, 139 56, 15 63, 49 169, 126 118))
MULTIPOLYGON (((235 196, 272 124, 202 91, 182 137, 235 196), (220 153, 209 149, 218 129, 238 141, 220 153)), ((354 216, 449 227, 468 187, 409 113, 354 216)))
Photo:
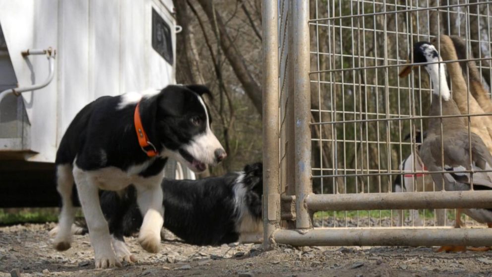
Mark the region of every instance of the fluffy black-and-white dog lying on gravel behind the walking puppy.
MULTIPOLYGON (((161 184, 164 227, 184 242, 195 245, 260 241, 262 170, 261 163, 254 163, 246 165, 243 171, 220 177, 164 179, 161 184)), ((135 189, 130 186, 123 194, 102 191, 100 199, 117 258, 135 262, 123 239, 138 232, 143 220, 135 189)), ((84 234, 87 228, 82 224, 74 232, 84 234)))

